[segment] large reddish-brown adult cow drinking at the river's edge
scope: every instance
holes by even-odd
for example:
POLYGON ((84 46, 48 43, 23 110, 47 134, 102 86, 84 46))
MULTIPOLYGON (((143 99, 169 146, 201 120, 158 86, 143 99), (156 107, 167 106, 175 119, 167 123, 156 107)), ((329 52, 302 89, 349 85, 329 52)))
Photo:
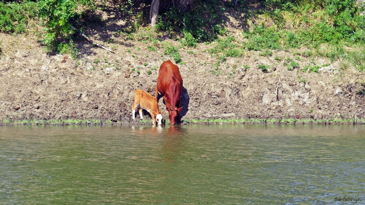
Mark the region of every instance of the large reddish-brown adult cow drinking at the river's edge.
POLYGON ((183 109, 180 105, 180 93, 183 87, 179 67, 171 61, 164 61, 158 71, 156 85, 157 94, 160 92, 164 96, 166 109, 169 111, 170 124, 174 125, 178 121, 179 112, 183 109))

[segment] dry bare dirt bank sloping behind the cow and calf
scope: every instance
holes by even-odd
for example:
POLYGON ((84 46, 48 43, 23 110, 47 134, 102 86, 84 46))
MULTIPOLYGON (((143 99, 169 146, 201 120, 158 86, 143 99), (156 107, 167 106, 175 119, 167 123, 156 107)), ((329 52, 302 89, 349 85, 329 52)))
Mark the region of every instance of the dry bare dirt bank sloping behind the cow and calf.
MULTIPOLYGON (((157 46, 152 52, 148 42, 108 45, 117 47, 116 54, 80 42, 80 59, 74 60, 68 54, 47 55, 35 38, 5 34, 0 38, 4 39, 0 56, 3 122, 99 119, 134 124, 134 90, 154 95, 158 68, 166 60, 164 50, 157 46)), ((341 70, 341 62, 301 57, 300 67, 310 61, 325 65, 319 73, 308 73, 288 70, 274 59, 295 58, 292 53, 277 51, 262 57, 247 51, 241 58, 227 58, 217 74, 217 59, 205 52, 210 46, 179 50, 185 63, 178 65, 184 81, 182 120, 365 118, 365 98, 359 94, 365 88, 365 75, 356 69, 341 70), (259 64, 269 65, 270 72, 258 69, 259 64)), ((165 111, 162 99, 159 106, 165 111)), ((167 112, 164 117, 168 119, 167 112)))

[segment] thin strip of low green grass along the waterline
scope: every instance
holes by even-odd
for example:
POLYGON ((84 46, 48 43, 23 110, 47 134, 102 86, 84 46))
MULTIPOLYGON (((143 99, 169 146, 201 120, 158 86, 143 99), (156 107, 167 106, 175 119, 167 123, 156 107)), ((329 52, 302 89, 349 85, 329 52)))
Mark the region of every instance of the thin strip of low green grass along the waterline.
MULTIPOLYGON (((169 120, 165 120, 164 125, 169 124, 169 120)), ((191 119, 182 120, 182 125, 186 124, 365 124, 365 119, 191 119)), ((152 125, 152 120, 143 119, 129 122, 97 119, 68 119, 68 120, 3 120, 0 125, 25 125, 25 126, 62 126, 62 125, 152 125)))

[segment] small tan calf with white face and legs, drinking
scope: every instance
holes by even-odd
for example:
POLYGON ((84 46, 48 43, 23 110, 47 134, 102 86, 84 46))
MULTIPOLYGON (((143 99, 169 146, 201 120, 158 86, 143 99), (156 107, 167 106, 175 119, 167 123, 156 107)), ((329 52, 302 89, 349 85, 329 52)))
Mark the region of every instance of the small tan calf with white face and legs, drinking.
POLYGON ((157 124, 161 125, 162 112, 158 110, 157 101, 150 93, 139 89, 136 89, 134 91, 134 104, 132 107, 133 120, 135 120, 134 113, 137 107, 141 119, 143 119, 142 109, 145 109, 147 112, 150 113, 153 124, 155 125, 157 120, 157 124))

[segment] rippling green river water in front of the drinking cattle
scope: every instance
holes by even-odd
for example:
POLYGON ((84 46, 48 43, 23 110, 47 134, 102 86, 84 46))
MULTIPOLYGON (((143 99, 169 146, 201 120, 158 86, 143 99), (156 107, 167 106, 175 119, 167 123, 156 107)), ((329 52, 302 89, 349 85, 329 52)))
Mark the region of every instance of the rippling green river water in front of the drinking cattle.
POLYGON ((0 204, 365 202, 365 126, 0 127, 0 204))

